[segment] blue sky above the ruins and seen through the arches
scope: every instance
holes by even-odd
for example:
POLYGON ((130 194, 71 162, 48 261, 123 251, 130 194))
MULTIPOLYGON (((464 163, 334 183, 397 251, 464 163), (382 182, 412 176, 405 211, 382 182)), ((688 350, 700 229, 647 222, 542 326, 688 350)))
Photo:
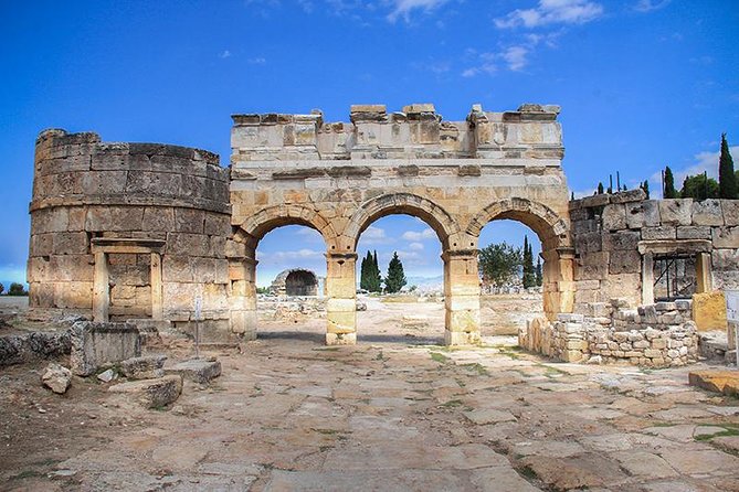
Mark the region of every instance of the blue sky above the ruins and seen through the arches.
MULTIPOLYGON (((665 164, 678 181, 715 174, 720 133, 739 143, 736 0, 0 0, 0 281, 24 278, 33 141, 47 127, 226 163, 233 113, 347 120, 351 104, 431 101, 456 120, 474 103, 559 104, 577 194, 615 171, 630 185, 665 164)), ((381 255, 422 234, 414 221, 376 223, 398 240, 381 255)), ((260 247, 265 275, 270 255, 292 266, 314 249, 271 246, 296 237, 285 231, 260 247)), ((436 258, 426 240, 415 253, 436 258)))

